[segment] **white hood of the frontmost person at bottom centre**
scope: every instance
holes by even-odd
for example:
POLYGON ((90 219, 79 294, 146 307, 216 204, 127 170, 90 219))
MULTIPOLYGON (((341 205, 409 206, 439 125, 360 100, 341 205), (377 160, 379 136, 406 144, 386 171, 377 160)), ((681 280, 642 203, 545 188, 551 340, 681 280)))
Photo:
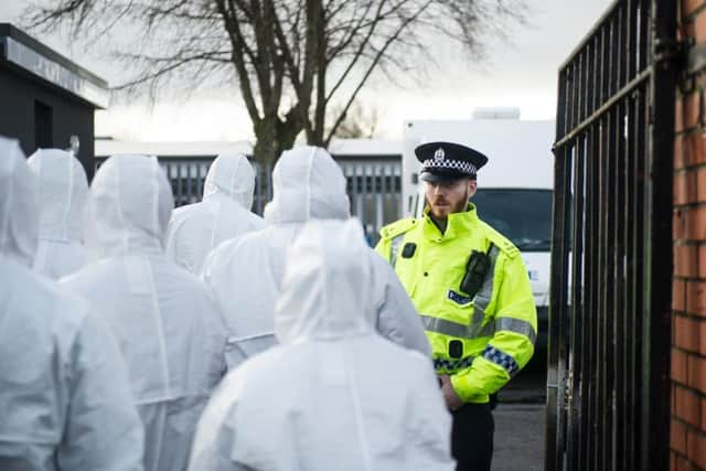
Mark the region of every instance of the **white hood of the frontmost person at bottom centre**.
POLYGON ((372 333, 371 261, 356 220, 311 221, 287 256, 275 332, 282 344, 372 333))

